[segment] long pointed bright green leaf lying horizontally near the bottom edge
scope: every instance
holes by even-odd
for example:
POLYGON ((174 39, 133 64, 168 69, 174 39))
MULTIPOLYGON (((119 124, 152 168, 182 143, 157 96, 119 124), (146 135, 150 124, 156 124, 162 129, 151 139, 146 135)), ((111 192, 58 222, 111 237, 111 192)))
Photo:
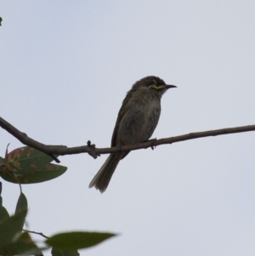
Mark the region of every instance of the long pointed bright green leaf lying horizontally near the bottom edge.
POLYGON ((92 247, 112 236, 116 236, 116 234, 98 232, 68 232, 51 236, 48 238, 48 240, 46 240, 46 243, 59 249, 73 250, 92 247))

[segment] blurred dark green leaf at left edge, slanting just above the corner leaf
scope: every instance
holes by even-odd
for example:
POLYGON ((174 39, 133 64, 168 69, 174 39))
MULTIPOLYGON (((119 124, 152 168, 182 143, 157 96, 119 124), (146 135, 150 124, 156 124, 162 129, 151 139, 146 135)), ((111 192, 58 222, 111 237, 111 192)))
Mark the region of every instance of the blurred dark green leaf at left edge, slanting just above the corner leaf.
POLYGON ((0 223, 0 248, 14 242, 15 236, 20 232, 20 226, 24 224, 26 213, 27 210, 23 209, 0 223))

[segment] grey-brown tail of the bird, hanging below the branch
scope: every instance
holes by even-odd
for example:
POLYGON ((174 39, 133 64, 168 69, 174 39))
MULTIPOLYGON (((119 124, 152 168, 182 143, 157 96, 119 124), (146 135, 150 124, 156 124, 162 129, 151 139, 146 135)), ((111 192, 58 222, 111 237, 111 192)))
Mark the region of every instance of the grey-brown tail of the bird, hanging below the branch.
POLYGON ((118 153, 108 156, 103 166, 99 169, 99 172, 95 174, 94 179, 89 183, 88 187, 95 187, 101 193, 104 193, 109 185, 112 174, 121 160, 121 156, 122 155, 118 153))

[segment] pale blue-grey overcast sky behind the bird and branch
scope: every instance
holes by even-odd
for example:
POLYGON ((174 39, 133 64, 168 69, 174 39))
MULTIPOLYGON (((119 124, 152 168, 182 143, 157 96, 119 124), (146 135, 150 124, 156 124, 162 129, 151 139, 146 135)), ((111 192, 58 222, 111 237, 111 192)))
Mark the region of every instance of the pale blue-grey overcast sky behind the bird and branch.
MULTIPOLYGON (((178 86, 152 138, 255 123, 254 1, 2 1, 0 16, 1 117, 44 144, 110 146, 127 91, 150 75, 178 86)), ((3 129, 0 141, 0 156, 22 146, 3 129)), ((120 234, 81 255, 254 255, 254 141, 133 151, 103 195, 88 184, 106 155, 61 156, 64 175, 22 186, 26 228, 120 234)), ((14 213, 19 186, 2 182, 14 213)))

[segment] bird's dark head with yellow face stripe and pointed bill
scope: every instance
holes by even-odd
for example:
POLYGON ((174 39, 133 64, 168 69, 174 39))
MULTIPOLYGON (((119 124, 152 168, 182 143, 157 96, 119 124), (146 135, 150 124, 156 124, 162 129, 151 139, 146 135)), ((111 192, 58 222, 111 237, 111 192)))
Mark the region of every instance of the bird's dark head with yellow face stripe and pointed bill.
POLYGON ((153 76, 144 77, 133 84, 133 88, 139 88, 141 86, 149 88, 150 90, 154 90, 160 95, 164 94, 168 88, 177 87, 175 85, 166 84, 166 82, 164 82, 164 80, 162 80, 161 78, 153 76))

